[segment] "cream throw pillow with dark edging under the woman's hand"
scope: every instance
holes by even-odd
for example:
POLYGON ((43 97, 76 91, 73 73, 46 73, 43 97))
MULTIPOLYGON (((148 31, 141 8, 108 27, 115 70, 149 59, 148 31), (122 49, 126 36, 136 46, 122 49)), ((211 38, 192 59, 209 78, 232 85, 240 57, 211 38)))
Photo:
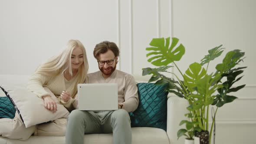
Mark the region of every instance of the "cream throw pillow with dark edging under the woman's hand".
POLYGON ((10 85, 1 85, 1 87, 4 88, 7 92, 7 96, 9 96, 13 101, 26 128, 59 118, 67 118, 69 115, 69 111, 63 105, 59 104, 56 96, 49 90, 49 88, 44 87, 56 101, 57 111, 55 113, 44 107, 42 98, 39 98, 33 92, 28 91, 24 87, 15 87, 10 85))

